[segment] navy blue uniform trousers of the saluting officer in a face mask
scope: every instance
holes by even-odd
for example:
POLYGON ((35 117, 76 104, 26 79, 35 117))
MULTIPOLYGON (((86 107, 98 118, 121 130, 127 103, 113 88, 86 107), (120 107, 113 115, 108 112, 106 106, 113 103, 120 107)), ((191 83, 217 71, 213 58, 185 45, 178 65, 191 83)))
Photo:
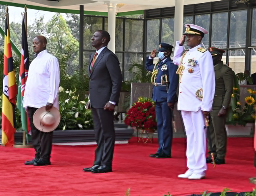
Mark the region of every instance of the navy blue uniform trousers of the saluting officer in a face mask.
POLYGON ((173 141, 172 112, 167 102, 156 102, 158 150, 156 153, 171 155, 173 141))

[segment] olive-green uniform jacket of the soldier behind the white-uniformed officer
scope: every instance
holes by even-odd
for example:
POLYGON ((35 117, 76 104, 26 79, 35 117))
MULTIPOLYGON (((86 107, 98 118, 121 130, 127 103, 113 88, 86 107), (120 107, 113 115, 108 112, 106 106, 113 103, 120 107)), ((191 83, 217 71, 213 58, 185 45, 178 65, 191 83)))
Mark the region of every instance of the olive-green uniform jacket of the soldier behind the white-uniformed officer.
POLYGON ((215 72, 215 95, 212 109, 219 110, 221 106, 229 106, 233 93, 233 72, 223 62, 214 67, 215 72))

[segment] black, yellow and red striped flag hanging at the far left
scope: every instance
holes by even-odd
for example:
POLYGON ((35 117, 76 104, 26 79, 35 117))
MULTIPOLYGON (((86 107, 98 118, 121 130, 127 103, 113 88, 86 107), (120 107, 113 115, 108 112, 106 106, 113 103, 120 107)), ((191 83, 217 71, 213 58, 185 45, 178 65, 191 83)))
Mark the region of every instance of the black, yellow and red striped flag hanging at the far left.
POLYGON ((17 86, 14 73, 12 50, 10 47, 10 32, 5 18, 4 35, 4 80, 2 97, 2 144, 14 145, 14 133, 16 132, 15 107, 17 86))

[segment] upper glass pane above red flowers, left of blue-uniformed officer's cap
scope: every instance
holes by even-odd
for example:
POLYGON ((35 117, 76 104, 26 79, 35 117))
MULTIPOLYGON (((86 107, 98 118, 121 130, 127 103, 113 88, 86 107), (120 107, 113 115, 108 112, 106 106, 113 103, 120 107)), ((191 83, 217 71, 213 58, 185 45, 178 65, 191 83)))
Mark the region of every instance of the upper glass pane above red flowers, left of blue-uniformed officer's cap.
POLYGON ((143 51, 143 20, 125 20, 125 51, 143 51))

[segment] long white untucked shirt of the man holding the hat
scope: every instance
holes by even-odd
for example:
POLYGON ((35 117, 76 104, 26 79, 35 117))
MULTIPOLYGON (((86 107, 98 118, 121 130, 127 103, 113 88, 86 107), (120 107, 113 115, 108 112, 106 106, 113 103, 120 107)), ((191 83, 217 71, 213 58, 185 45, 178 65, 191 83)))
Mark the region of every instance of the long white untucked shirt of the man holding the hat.
POLYGON ((44 50, 31 62, 25 87, 23 107, 40 108, 52 103, 58 104, 60 67, 58 59, 44 50))

